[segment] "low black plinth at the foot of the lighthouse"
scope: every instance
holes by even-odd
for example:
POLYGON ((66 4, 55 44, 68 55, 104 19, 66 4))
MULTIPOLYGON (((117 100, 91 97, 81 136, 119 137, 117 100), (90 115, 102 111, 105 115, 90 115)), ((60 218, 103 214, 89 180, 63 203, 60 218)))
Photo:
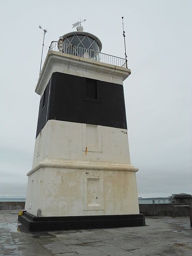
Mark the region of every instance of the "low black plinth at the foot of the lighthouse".
POLYGON ((112 227, 138 227, 145 225, 143 214, 36 217, 28 212, 18 221, 29 231, 79 230, 112 227))

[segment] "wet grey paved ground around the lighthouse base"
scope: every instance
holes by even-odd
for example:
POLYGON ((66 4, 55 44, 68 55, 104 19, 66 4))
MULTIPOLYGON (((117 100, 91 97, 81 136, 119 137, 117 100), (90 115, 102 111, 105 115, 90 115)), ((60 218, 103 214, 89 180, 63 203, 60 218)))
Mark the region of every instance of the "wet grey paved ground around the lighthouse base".
POLYGON ((0 211, 0 256, 192 256, 189 217, 147 217, 145 227, 29 232, 0 211))

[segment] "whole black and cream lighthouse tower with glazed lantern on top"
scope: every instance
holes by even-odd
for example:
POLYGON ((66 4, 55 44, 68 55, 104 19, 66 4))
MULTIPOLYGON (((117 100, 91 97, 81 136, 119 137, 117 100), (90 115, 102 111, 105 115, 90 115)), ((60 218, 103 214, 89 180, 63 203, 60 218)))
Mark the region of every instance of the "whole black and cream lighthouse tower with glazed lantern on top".
POLYGON ((26 205, 28 230, 144 225, 131 166, 123 81, 125 59, 79 25, 49 47, 26 205))

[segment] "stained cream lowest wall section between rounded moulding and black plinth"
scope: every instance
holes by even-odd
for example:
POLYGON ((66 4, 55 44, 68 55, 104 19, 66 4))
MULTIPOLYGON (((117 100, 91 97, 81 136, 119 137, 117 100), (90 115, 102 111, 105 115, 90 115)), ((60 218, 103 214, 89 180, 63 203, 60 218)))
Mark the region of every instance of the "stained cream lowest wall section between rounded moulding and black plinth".
MULTIPOLYGON (((26 210, 39 216, 138 214, 135 172, 42 168, 26 210)), ((30 187, 30 186, 29 186, 30 187)))

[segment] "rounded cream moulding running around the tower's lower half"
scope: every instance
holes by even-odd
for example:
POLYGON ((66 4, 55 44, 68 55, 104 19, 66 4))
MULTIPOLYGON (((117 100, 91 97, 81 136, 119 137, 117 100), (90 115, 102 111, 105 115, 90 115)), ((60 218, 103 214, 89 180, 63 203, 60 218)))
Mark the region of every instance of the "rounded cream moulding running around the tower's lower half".
POLYGON ((88 170, 103 170, 103 171, 124 171, 124 172, 137 172, 138 168, 134 166, 123 165, 107 165, 95 163, 66 163, 66 162, 52 162, 42 161, 31 169, 26 175, 30 176, 40 168, 64 168, 64 169, 88 169, 88 170))

